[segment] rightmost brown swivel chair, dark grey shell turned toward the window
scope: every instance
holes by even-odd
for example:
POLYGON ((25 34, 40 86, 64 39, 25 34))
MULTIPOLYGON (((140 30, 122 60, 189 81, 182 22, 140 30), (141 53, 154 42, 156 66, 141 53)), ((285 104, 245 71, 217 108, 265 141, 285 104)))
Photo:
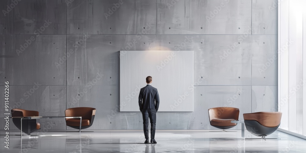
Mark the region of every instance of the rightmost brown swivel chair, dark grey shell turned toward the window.
POLYGON ((243 114, 248 132, 266 140, 281 124, 282 112, 256 112, 243 114))

